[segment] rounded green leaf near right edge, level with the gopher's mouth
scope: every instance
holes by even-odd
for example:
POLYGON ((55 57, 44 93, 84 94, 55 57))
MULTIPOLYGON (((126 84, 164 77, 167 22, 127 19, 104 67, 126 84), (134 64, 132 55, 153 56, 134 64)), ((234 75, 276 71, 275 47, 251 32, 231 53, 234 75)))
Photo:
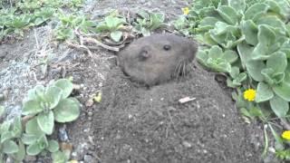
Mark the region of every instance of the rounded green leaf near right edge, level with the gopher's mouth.
POLYGON ((285 72, 287 67, 287 57, 283 52, 276 52, 266 61, 266 67, 271 68, 274 72, 285 72))

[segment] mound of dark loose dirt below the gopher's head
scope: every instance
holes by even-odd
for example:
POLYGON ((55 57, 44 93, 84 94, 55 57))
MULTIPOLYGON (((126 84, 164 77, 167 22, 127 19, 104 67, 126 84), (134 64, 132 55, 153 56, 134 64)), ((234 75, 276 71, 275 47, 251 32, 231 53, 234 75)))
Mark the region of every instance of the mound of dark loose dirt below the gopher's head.
POLYGON ((102 97, 92 121, 101 162, 260 162, 227 92, 199 68, 147 89, 116 67, 102 97), (180 104, 187 96, 196 100, 180 104))

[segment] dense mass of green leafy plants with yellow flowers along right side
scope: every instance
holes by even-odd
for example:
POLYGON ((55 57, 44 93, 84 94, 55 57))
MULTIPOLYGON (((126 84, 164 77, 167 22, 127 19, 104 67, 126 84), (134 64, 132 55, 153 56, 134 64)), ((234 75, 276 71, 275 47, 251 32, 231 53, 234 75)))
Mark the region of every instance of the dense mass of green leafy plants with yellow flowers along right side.
POLYGON ((289 158, 283 144, 289 137, 277 136, 271 124, 275 117, 287 122, 289 115, 289 6, 286 0, 197 0, 175 22, 181 33, 205 44, 198 62, 227 74, 244 116, 259 117, 271 127, 280 158, 289 158))

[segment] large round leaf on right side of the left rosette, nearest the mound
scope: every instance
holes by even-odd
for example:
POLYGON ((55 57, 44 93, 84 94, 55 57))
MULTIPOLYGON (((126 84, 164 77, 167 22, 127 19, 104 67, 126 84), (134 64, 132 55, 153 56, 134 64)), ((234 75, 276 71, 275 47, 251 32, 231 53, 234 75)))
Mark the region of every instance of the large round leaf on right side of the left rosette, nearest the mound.
POLYGON ((76 120, 80 115, 80 103, 73 99, 63 99, 53 110, 54 119, 57 122, 69 122, 76 120))

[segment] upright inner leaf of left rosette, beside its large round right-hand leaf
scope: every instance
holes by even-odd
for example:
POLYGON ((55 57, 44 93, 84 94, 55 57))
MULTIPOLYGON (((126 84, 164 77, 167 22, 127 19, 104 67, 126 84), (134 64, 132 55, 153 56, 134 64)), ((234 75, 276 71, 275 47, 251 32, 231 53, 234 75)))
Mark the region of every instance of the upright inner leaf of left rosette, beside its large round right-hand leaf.
POLYGON ((50 86, 45 91, 44 97, 45 102, 49 103, 49 109, 55 108, 55 106, 58 104, 58 102, 62 98, 62 90, 55 86, 50 86))

